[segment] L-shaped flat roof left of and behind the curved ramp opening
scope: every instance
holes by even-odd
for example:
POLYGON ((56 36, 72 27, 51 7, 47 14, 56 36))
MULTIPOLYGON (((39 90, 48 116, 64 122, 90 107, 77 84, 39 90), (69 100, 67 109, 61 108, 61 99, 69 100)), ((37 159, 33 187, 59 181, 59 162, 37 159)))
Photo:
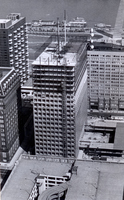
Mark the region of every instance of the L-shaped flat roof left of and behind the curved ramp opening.
POLYGON ((38 174, 64 176, 71 168, 67 159, 23 155, 3 188, 2 200, 24 200, 29 197, 38 174))

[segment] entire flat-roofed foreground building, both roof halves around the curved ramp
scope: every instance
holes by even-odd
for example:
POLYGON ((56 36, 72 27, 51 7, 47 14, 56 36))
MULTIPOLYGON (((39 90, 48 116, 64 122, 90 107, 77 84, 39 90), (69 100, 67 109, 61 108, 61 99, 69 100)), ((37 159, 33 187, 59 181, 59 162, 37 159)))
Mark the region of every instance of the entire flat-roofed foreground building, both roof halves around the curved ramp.
POLYGON ((59 184, 70 171, 72 163, 73 159, 22 155, 4 185, 1 199, 53 200, 61 199, 64 192, 66 192, 66 200, 122 199, 123 160, 106 162, 77 159, 71 179, 59 184), (50 183, 50 178, 52 187, 41 190, 47 183, 50 183))

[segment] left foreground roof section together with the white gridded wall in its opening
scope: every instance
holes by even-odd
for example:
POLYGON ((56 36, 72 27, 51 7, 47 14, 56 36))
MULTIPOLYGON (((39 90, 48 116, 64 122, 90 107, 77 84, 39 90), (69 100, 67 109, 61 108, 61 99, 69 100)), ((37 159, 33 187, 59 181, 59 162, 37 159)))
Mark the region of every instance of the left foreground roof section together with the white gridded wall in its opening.
POLYGON ((47 190, 48 196, 49 188, 67 181, 73 162, 73 159, 22 155, 2 189, 1 199, 42 199, 47 190))

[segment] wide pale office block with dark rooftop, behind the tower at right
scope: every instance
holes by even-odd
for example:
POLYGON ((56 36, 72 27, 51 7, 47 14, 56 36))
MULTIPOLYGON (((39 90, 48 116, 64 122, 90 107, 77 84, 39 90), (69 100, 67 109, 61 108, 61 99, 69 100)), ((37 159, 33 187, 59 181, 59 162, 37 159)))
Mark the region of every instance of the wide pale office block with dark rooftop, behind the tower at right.
MULTIPOLYGON (((88 50, 88 107, 105 111, 124 110, 124 47, 94 42, 88 50)), ((119 113, 119 112, 118 112, 119 113)))

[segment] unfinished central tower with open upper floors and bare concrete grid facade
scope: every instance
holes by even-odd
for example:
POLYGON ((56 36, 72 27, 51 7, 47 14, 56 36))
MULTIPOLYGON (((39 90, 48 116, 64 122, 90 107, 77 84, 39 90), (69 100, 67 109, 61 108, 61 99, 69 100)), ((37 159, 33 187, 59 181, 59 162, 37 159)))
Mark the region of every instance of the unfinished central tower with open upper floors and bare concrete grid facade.
POLYGON ((86 44, 47 48, 33 63, 35 153, 75 157, 87 115, 86 44))

